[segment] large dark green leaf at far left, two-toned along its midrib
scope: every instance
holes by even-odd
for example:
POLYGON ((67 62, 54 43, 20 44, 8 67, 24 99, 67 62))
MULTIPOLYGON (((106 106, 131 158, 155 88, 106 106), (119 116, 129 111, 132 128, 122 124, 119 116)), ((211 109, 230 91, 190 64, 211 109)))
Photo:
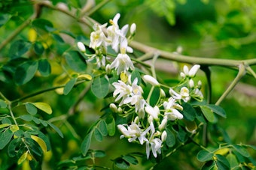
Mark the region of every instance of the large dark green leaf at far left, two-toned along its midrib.
POLYGON ((38 70, 38 62, 37 61, 26 61, 20 66, 17 67, 14 73, 15 82, 18 85, 24 85, 26 82, 29 82, 34 76, 36 71, 38 70))

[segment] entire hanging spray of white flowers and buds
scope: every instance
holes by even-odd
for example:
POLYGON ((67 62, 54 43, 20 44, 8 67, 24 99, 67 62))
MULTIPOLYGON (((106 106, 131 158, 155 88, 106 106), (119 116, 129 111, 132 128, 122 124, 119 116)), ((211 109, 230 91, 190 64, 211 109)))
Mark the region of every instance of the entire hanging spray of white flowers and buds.
MULTIPOLYGON (((128 46, 128 42, 133 38, 136 25, 130 27, 130 36, 126 37, 129 26, 124 25, 119 28, 117 24, 120 14, 117 13, 114 19, 110 20, 111 25, 95 25, 94 31, 90 34, 90 48, 95 50, 95 54, 90 55, 88 61, 96 59, 99 68, 105 68, 106 73, 116 73, 120 76, 117 82, 112 83, 114 87, 114 103, 110 104, 113 112, 131 120, 127 124, 118 124, 117 128, 122 135, 120 139, 126 138, 128 142, 137 142, 146 146, 146 154, 149 158, 150 153, 154 157, 161 154, 161 148, 167 138, 167 124, 183 118, 181 111, 183 102, 187 103, 191 98, 203 100, 203 94, 200 91, 201 82, 194 85, 194 76, 200 65, 194 65, 190 70, 184 66, 181 73, 181 83, 175 88, 167 88, 167 94, 164 91, 166 85, 161 85, 157 79, 150 75, 138 76, 132 79, 131 70, 135 70, 130 56, 126 52, 133 52, 128 46), (114 52, 117 52, 116 58, 110 60, 107 58, 107 49, 110 46, 114 52), (126 79, 122 79, 122 76, 126 79), (159 90, 159 100, 151 104, 152 93, 145 97, 142 83, 151 86, 151 91, 159 90), (162 88, 163 87, 163 88, 162 88)), ((78 48, 85 52, 84 44, 78 42, 78 48)), ((89 56, 89 55, 88 55, 89 56)), ((166 90, 166 89, 165 89, 166 90)))

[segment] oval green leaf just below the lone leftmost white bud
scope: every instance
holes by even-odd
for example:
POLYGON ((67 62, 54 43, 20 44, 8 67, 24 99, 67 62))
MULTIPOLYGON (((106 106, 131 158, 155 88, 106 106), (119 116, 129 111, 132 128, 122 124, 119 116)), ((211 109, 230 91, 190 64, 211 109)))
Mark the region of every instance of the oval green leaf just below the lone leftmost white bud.
POLYGON ((86 70, 87 64, 84 58, 77 51, 67 52, 65 55, 66 61, 73 70, 83 72, 86 70))

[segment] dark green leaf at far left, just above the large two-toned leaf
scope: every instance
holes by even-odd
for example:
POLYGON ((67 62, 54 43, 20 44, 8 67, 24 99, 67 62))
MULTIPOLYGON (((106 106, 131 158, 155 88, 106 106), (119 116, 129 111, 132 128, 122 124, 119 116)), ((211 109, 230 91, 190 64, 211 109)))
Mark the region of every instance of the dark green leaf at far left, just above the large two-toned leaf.
POLYGON ((32 44, 29 41, 25 40, 14 41, 9 49, 9 55, 11 56, 11 59, 20 58, 23 54, 29 51, 31 45, 32 44))

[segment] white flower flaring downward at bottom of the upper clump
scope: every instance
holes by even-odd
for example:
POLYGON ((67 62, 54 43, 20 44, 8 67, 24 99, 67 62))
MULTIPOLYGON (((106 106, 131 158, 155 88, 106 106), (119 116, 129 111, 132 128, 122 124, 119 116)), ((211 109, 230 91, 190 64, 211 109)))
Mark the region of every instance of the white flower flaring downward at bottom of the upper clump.
POLYGON ((126 71, 134 70, 133 62, 131 61, 129 55, 126 54, 127 40, 123 40, 120 46, 120 51, 117 55, 117 58, 111 63, 111 69, 117 70, 117 75, 120 75, 121 72, 126 73, 126 71))

